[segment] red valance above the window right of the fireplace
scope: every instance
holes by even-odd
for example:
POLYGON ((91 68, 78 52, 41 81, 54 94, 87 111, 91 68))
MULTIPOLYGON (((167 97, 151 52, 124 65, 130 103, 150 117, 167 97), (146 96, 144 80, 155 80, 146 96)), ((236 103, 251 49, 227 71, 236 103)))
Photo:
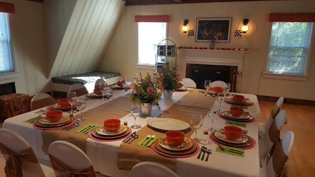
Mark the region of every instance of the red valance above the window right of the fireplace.
POLYGON ((269 22, 315 22, 315 13, 271 13, 269 22))

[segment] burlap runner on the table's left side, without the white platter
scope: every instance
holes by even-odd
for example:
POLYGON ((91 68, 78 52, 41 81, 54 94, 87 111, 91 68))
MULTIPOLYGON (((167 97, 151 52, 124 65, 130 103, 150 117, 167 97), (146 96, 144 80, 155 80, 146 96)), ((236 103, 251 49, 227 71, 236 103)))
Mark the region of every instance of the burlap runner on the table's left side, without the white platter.
MULTIPOLYGON (((98 107, 88 110, 83 113, 83 118, 85 121, 80 121, 80 126, 72 128, 69 131, 54 129, 54 130, 43 130, 42 139, 43 146, 42 150, 48 154, 48 147, 51 143, 57 140, 67 141, 74 144, 75 146, 86 152, 86 139, 89 137, 88 134, 77 133, 76 130, 90 124, 96 123, 97 125, 102 125, 103 121, 108 118, 122 118, 126 114, 130 113, 131 102, 128 101, 130 94, 124 95, 117 99, 113 99, 107 103, 104 103, 98 107)), ((89 103, 87 103, 89 104, 89 103)), ((79 117, 80 114, 77 116, 79 117)))

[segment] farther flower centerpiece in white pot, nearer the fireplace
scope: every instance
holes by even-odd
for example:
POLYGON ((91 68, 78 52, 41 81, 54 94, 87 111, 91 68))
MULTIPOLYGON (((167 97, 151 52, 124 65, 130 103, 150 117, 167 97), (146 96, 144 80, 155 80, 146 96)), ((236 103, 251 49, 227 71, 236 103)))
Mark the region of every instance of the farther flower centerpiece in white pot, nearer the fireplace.
POLYGON ((160 89, 163 89, 164 100, 172 99, 173 90, 183 87, 183 84, 180 83, 182 80, 180 74, 177 73, 177 66, 170 67, 167 64, 165 68, 162 68, 155 75, 157 76, 160 89))

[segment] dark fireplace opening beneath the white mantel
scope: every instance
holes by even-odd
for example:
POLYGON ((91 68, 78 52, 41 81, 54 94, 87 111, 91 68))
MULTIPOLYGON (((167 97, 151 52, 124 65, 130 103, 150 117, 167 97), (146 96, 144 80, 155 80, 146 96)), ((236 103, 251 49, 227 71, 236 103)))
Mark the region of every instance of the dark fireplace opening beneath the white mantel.
POLYGON ((231 91, 236 88, 237 66, 186 64, 186 78, 192 79, 197 89, 205 89, 205 80, 223 81, 231 84, 231 91))

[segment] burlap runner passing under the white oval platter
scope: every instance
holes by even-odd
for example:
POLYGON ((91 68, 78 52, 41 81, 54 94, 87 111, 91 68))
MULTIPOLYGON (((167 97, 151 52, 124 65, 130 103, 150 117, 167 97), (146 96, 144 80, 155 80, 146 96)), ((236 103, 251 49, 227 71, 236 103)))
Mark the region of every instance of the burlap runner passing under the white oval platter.
MULTIPOLYGON (((167 109, 168 114, 162 114, 162 118, 179 119, 189 123, 191 115, 194 113, 206 116, 209 107, 214 104, 216 97, 204 96, 198 89, 194 92, 187 93, 182 99, 167 109)), ((186 137, 190 137, 193 129, 186 133, 186 137)), ((118 151, 117 167, 120 169, 131 170, 134 165, 143 161, 152 161, 163 164, 164 166, 176 171, 176 158, 164 157, 152 148, 137 146, 137 143, 148 134, 155 134, 156 137, 165 135, 165 132, 158 132, 149 128, 147 125, 137 131, 139 139, 134 140, 131 144, 122 143, 118 151)))

